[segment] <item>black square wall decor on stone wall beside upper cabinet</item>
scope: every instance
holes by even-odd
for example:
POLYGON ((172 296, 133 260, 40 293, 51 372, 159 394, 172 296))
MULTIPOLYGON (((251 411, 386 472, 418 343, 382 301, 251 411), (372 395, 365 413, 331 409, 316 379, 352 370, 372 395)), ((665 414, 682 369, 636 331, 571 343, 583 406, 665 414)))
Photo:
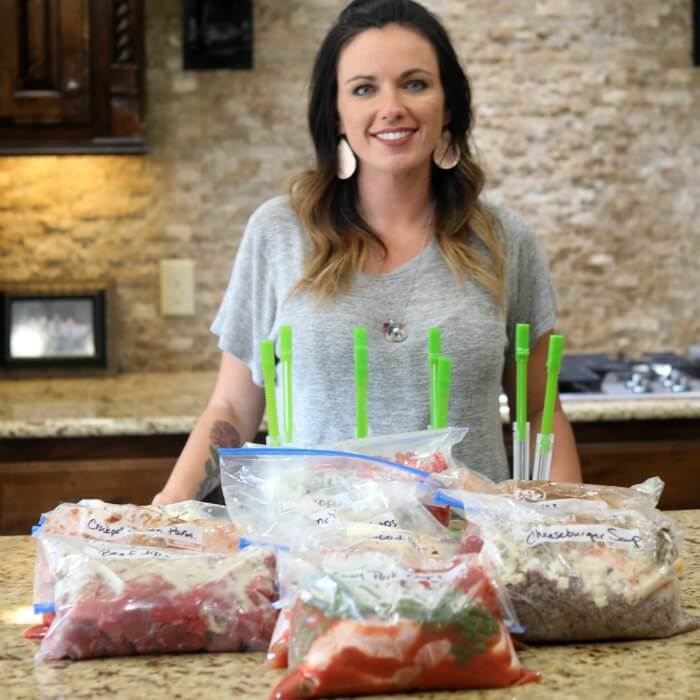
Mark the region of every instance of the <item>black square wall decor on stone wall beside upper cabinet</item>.
POLYGON ((253 67, 253 0, 184 0, 185 70, 253 67))

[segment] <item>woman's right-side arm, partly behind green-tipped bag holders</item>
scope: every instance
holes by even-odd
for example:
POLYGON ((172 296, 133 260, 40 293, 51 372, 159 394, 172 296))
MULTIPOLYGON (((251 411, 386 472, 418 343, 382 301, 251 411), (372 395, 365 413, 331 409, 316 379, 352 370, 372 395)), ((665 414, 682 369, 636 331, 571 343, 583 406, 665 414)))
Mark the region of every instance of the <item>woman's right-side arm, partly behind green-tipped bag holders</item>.
MULTIPOLYGON (((530 463, 533 462, 535 438, 540 430, 542 422, 542 408, 544 406, 544 390, 547 384, 547 351, 549 336, 552 331, 543 334, 530 351, 530 359, 527 370, 527 416, 530 421, 530 463)), ((503 373, 503 388, 508 396, 508 405, 511 407, 511 415, 515 413, 515 365, 507 367, 503 373)), ((552 454, 551 480, 560 482, 581 483, 581 464, 576 451, 576 441, 571 424, 562 410, 559 394, 554 406, 554 420, 552 423, 554 432, 554 453, 552 454)))

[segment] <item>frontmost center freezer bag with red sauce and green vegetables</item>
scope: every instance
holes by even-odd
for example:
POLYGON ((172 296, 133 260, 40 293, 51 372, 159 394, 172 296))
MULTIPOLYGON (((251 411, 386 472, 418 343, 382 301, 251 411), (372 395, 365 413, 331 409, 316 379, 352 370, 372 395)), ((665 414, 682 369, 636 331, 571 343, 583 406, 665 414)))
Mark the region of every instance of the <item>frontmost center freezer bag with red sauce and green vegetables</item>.
POLYGON ((477 557, 420 565, 379 551, 280 560, 298 581, 290 671, 271 698, 504 687, 523 669, 477 557))

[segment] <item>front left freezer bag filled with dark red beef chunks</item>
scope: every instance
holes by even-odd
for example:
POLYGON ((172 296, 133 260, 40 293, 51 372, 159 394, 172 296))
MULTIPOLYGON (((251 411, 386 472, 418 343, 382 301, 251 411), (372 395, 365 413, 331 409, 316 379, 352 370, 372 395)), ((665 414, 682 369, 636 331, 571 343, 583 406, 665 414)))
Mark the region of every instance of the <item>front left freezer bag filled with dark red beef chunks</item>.
POLYGON ((38 658, 261 651, 277 612, 275 556, 206 554, 39 533, 55 619, 38 658))

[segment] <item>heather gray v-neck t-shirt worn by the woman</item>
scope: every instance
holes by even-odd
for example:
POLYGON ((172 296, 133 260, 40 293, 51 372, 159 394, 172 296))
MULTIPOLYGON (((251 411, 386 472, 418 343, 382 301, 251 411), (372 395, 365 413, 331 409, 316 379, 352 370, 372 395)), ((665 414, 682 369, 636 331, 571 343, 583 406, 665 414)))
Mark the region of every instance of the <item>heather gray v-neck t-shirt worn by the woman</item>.
POLYGON ((294 442, 315 446, 354 435, 356 326, 367 328, 370 434, 427 428, 428 329, 440 327, 442 353, 452 358, 448 425, 469 428, 454 454, 471 469, 505 479, 499 393, 503 368, 514 362, 515 324, 530 324, 534 344, 554 327, 555 301, 532 230, 509 209, 493 211, 507 236, 504 310, 474 280, 460 284, 435 241, 392 272, 358 274, 349 292, 319 306, 307 293, 289 294, 310 243, 288 199, 271 199, 251 216, 238 249, 211 328, 219 347, 247 364, 262 386, 260 341, 278 342, 280 325, 292 326, 294 442), (390 318, 405 324, 404 342, 385 338, 390 318))

